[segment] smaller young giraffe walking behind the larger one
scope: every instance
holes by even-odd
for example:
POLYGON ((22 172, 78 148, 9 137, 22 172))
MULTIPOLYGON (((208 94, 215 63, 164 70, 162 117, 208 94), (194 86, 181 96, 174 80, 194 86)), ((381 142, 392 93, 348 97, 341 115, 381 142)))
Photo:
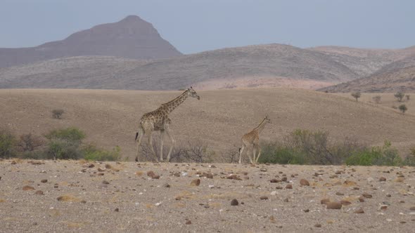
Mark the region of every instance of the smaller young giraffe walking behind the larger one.
POLYGON ((265 116, 264 119, 261 121, 260 125, 257 126, 257 128, 254 128, 252 131, 242 136, 242 148, 239 148, 239 164, 241 164, 241 157, 242 157, 243 149, 247 147, 246 154, 248 154, 248 147, 251 145, 253 147, 253 158, 251 159, 251 157, 248 154, 250 163, 256 164, 258 162, 258 159, 260 159, 260 155, 261 155, 260 133, 264 129, 265 124, 267 123, 271 123, 271 120, 268 118, 268 116, 265 116), (258 149, 258 155, 255 158, 257 149, 258 149))

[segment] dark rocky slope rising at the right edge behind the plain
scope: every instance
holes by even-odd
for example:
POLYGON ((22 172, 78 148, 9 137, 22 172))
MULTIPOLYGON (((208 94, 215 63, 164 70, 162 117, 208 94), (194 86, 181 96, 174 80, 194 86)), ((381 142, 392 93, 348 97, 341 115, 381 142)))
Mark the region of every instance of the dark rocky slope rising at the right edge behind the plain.
POLYGON ((385 65, 364 78, 320 88, 319 91, 330 93, 352 91, 366 93, 413 92, 415 91, 415 55, 385 65))

